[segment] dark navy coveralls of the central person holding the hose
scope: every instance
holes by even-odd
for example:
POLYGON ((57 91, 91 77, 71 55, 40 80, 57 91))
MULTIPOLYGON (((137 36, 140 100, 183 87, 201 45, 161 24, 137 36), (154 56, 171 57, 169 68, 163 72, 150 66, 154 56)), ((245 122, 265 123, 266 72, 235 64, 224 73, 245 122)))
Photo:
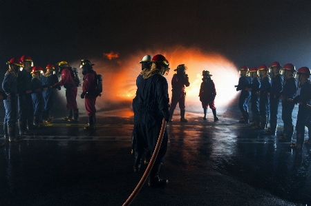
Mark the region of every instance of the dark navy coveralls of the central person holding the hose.
MULTIPOLYGON (((168 85, 167 79, 154 70, 146 72, 143 77, 144 79, 138 83, 138 90, 133 99, 135 112, 133 148, 138 153, 143 153, 149 148, 152 155, 160 134, 162 119, 169 121, 168 85)), ((165 128, 157 160, 163 161, 167 141, 167 128, 165 128)))

